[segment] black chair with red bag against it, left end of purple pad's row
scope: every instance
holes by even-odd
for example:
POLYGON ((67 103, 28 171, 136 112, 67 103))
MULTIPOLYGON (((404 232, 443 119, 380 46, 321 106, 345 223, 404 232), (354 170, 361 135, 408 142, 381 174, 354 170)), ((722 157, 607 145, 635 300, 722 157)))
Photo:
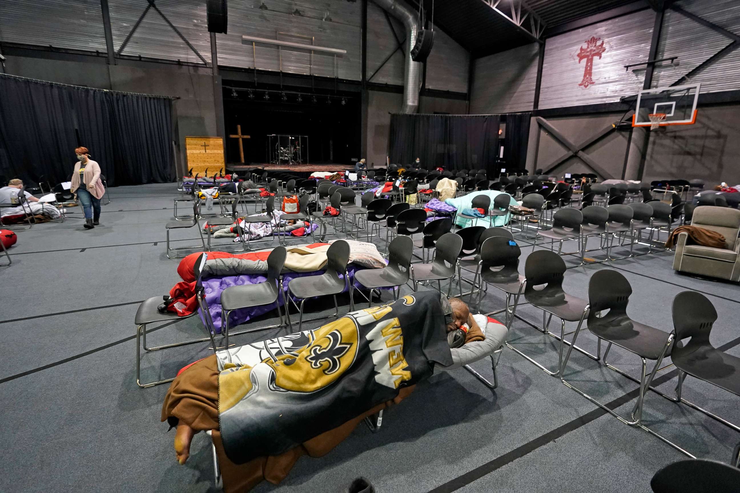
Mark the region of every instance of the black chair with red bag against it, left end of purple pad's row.
POLYGON ((139 305, 138 310, 136 310, 136 316, 134 318, 134 324, 136 325, 136 384, 142 389, 145 389, 147 387, 154 387, 155 385, 159 384, 166 384, 175 380, 175 377, 166 378, 164 380, 158 381, 150 381, 146 384, 142 384, 141 347, 144 347, 145 351, 158 351, 166 349, 168 347, 177 347, 184 346, 186 344, 195 344, 196 342, 210 341, 211 347, 213 348, 214 352, 218 350, 213 338, 213 324, 210 321, 211 314, 208 311, 208 306, 206 305, 206 293, 203 289, 203 285, 201 284, 203 268, 206 265, 207 259, 208 254, 201 254, 200 256, 198 256, 198 259, 195 260, 195 265, 193 266, 193 277, 195 278, 195 298, 198 301, 198 306, 201 308, 203 318, 206 320, 205 328, 206 330, 208 330, 208 337, 205 337, 203 339, 194 339, 192 341, 175 342, 174 344, 164 344, 162 346, 156 347, 147 347, 147 325, 155 324, 158 322, 168 322, 161 327, 157 327, 157 329, 161 329, 163 327, 166 327, 166 325, 174 324, 175 322, 179 322, 180 320, 189 319, 192 316, 198 315, 198 310, 193 310, 192 313, 189 313, 185 316, 179 316, 178 313, 170 311, 161 312, 158 310, 158 307, 163 301, 162 296, 152 296, 152 298, 145 299, 143 302, 141 302, 141 305, 139 305))

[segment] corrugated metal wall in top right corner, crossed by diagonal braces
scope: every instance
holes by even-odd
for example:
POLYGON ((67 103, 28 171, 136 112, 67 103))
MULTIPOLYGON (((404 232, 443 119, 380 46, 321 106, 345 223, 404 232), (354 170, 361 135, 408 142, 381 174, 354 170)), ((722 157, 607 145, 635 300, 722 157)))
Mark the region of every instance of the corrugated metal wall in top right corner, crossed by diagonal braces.
MULTIPOLYGON (((740 34, 738 0, 683 0, 676 5, 731 33, 740 34)), ((675 10, 667 10, 663 19, 657 56, 658 58, 677 56, 679 67, 656 67, 653 87, 670 86, 731 42, 730 38, 709 27, 675 10)), ((684 81, 682 84, 699 82, 702 83, 702 92, 740 89, 740 47, 700 69, 690 81, 684 81)))

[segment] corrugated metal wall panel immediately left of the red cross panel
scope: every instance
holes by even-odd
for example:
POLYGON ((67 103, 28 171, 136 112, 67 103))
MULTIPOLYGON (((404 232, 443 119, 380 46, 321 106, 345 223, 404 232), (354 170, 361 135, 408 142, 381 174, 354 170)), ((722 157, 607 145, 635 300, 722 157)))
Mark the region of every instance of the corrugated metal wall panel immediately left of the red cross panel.
POLYGON ((470 112, 495 114, 532 109, 539 44, 477 58, 470 112))

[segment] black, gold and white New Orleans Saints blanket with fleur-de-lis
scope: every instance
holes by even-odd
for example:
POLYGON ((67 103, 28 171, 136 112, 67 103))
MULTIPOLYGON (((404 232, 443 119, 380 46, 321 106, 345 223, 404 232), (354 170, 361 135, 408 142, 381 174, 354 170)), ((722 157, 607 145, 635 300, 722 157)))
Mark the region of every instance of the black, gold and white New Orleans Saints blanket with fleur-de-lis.
POLYGON ((434 291, 218 359, 221 438, 234 463, 286 452, 452 363, 434 291))

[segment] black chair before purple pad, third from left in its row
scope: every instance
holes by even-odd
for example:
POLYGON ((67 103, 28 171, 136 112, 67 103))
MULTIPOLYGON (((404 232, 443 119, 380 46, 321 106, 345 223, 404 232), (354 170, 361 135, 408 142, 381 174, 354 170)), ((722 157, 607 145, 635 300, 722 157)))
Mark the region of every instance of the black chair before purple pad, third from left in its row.
MULTIPOLYGON (((292 296, 288 299, 298 310, 298 331, 303 330, 303 303, 306 299, 316 298, 317 296, 334 296, 334 313, 327 316, 317 316, 313 319, 306 319, 305 322, 326 319, 330 316, 339 318, 339 305, 337 304, 337 294, 349 291, 349 311, 354 311, 354 300, 352 299, 351 283, 347 273, 347 263, 349 262, 349 243, 343 239, 337 239, 329 250, 326 251, 326 273, 320 276, 297 277, 288 283, 288 291, 292 296), (300 307, 296 303, 300 299, 300 307)), ((288 305, 286 305, 286 312, 288 305)))

